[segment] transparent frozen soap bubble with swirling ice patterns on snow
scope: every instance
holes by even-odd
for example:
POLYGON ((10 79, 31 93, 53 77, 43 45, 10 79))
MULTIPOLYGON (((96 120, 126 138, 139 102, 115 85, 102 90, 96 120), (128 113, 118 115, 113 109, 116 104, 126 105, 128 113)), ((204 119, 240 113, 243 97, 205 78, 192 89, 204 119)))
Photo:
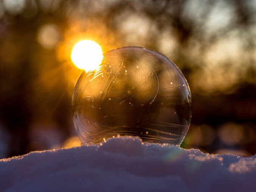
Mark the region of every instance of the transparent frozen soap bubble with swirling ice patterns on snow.
POLYGON ((179 68, 141 47, 103 54, 100 68, 83 71, 72 113, 83 144, 116 136, 180 145, 191 119, 191 93, 179 68))

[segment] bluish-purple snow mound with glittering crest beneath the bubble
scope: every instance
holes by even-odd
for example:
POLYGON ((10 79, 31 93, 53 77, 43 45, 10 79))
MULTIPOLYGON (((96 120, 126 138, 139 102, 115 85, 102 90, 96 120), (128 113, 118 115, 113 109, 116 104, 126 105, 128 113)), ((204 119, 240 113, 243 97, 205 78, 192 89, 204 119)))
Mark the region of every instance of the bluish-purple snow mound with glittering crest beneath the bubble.
POLYGON ((0 191, 255 191, 256 155, 120 137, 0 160, 0 191))

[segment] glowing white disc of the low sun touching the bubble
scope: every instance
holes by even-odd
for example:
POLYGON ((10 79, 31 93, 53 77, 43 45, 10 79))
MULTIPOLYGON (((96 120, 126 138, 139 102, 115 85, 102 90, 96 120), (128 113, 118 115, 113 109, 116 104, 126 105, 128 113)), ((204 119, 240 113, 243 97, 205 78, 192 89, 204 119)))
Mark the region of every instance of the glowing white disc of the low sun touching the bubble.
POLYGON ((71 54, 71 59, 76 67, 85 71, 97 69, 102 58, 100 45, 90 40, 76 43, 71 54))

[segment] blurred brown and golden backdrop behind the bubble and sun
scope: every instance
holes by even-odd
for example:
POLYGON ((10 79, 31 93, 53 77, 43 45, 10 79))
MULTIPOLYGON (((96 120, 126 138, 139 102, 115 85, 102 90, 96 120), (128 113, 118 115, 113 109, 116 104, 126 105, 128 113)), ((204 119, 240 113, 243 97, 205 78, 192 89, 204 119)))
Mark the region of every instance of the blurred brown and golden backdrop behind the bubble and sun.
POLYGON ((192 93, 181 147, 256 153, 256 0, 0 0, 0 159, 79 146, 80 40, 169 57, 192 93))

